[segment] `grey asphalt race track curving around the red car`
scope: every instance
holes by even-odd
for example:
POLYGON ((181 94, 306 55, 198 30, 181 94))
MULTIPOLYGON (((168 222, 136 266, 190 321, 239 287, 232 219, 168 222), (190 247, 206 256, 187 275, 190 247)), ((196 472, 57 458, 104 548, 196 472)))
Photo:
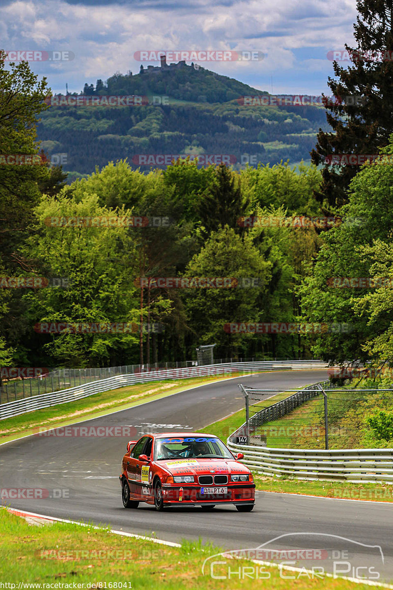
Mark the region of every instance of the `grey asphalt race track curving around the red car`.
MULTIPOLYGON (((276 371, 242 376, 88 420, 82 425, 131 426, 139 432, 146 432, 150 424, 152 431, 198 430, 243 407, 237 383, 285 389, 324 378, 326 371, 276 371)), ((296 555, 298 559, 290 559, 293 554, 289 554, 286 561, 300 568, 318 567, 320 572, 336 568, 347 576, 366 576, 374 581, 377 581, 375 572, 379 572, 378 581, 393 580, 393 504, 260 491, 252 513, 239 513, 232 506, 216 507, 212 512, 191 507, 157 513, 154 507, 140 504, 137 510, 126 510, 121 503, 118 475, 127 442, 128 437, 115 436, 31 436, 2 445, 0 489, 44 489, 49 494, 41 499, 19 498, 2 503, 48 516, 110 524, 113 529, 141 535, 154 532, 159 539, 175 542, 202 537, 203 541, 224 549, 257 548, 268 542, 264 549, 323 549, 313 559, 302 559, 309 555, 300 553, 296 555)), ((339 487, 339 483, 330 485, 339 487)), ((296 578, 298 574, 287 572, 286 575, 296 578)))

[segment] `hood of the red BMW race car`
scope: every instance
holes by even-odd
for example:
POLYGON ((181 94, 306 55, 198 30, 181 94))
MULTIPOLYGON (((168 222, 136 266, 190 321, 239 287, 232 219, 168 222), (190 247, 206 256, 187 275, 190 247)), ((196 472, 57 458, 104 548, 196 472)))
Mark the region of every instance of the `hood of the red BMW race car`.
POLYGON ((169 459, 167 461, 158 461, 161 465, 170 471, 173 475, 193 475, 200 476, 205 474, 227 474, 227 473, 250 473, 250 470, 242 463, 235 459, 169 459))

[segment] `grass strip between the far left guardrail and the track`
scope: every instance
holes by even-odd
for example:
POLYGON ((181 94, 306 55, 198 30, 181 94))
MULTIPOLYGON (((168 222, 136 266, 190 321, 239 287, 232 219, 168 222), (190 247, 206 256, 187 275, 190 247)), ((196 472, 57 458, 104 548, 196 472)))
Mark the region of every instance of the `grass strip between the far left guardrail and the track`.
MULTIPOLYGON (((50 408, 40 409, 27 414, 21 414, 14 418, 6 418, 0 421, 0 443, 15 440, 29 434, 34 434, 38 427, 57 428, 81 422, 83 420, 98 418, 111 411, 132 408, 154 399, 160 399, 167 395, 176 394, 198 385, 206 385, 214 381, 223 381, 242 376, 244 373, 231 373, 227 375, 214 375, 210 377, 193 377, 174 381, 150 381, 100 394, 91 395, 88 398, 78 399, 67 404, 58 404, 50 408)), ((247 373, 250 375, 252 373, 247 373)))

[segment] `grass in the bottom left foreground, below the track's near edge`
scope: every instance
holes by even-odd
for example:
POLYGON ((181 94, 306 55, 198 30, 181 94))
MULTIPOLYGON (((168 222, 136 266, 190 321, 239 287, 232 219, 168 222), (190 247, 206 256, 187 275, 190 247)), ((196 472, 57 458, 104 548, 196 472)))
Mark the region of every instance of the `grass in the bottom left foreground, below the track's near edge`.
MULTIPOLYGON (((252 519, 252 514, 247 517, 252 519)), ((229 578, 229 566, 231 571, 237 571, 240 563, 222 556, 215 558, 224 562, 214 566, 216 579, 210 576, 209 566, 207 575, 203 575, 204 560, 220 552, 220 549, 203 545, 200 541, 186 541, 177 548, 157 545, 144 539, 113 535, 109 529, 94 529, 89 526, 54 523, 37 527, 28 525, 24 519, 5 509, 0 509, 0 529, 1 581, 15 584, 5 586, 8 588, 18 588, 21 582, 35 583, 36 588, 42 589, 255 589, 255 577, 239 580, 239 576, 232 574, 229 578), (224 579, 217 579, 218 576, 223 576, 224 579)), ((315 588, 316 584, 319 590, 369 588, 365 584, 354 584, 344 579, 325 576, 312 579, 311 573, 306 575, 304 571, 290 572, 295 579, 289 581, 288 578, 284 579, 285 575, 289 575, 288 572, 285 574, 273 566, 256 565, 247 560, 242 560, 241 566, 252 567, 256 575, 263 568, 265 584, 259 579, 258 587, 269 590, 306 590, 315 588)))

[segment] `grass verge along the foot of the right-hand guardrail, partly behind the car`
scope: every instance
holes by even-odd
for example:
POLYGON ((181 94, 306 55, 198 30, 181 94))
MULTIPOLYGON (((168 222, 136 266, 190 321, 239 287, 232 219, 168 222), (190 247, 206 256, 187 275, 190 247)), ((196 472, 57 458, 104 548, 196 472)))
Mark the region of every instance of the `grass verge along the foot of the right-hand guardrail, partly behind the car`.
MULTIPOLYGON (((282 397, 280 396, 280 399, 282 397)), ((275 403, 273 398, 266 401, 275 403)), ((235 432, 246 421, 244 409, 235 412, 202 428, 202 432, 215 434, 226 442, 232 432, 235 432)), ((267 445, 269 446, 269 445, 267 445)), ((393 501, 393 485, 382 483, 349 483, 348 481, 305 481, 293 477, 268 477, 257 471, 253 472, 256 490, 272 491, 277 493, 306 494, 309 496, 321 496, 325 498, 339 498, 346 500, 369 500, 369 501, 393 501)))

